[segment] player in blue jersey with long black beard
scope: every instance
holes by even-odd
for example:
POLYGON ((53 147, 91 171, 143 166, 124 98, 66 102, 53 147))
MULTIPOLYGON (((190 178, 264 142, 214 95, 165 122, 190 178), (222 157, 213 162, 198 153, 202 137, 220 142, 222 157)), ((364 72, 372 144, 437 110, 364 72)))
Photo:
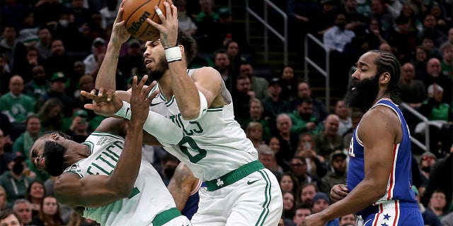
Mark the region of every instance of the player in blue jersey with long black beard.
POLYGON ((401 65, 394 55, 372 50, 356 66, 345 102, 366 113, 352 135, 348 185, 333 186, 336 203, 308 216, 302 225, 324 225, 350 213, 360 215, 367 226, 423 225, 411 190, 411 137, 403 114, 390 99, 401 65))

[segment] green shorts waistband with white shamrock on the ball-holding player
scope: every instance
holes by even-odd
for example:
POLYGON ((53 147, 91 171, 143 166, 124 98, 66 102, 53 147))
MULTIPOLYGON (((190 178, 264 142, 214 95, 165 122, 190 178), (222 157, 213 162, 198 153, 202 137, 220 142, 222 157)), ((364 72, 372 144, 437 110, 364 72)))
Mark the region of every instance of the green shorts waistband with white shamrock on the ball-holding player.
POLYGON ((243 165, 233 171, 224 174, 222 177, 217 179, 212 179, 206 183, 207 191, 215 191, 217 189, 222 189, 224 186, 229 186, 230 184, 234 184, 234 182, 247 177, 249 174, 256 172, 260 169, 264 169, 263 164, 260 161, 256 160, 253 162, 248 162, 246 165, 243 165))

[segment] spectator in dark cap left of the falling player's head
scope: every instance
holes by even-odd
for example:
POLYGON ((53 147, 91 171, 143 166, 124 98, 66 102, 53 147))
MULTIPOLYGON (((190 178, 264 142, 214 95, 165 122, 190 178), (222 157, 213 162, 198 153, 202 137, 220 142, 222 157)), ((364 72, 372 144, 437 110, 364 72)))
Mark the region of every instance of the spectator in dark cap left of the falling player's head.
POLYGON ((31 177, 23 173, 25 167, 25 157, 21 153, 13 153, 8 161, 9 171, 5 171, 0 176, 0 185, 8 194, 8 208, 13 206, 16 199, 25 197, 28 186, 33 181, 31 177))

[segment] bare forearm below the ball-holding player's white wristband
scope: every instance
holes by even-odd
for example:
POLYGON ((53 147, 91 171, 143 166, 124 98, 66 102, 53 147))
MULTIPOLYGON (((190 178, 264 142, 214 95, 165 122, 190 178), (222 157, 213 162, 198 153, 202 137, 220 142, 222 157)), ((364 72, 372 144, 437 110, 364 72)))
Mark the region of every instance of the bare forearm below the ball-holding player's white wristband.
POLYGON ((171 74, 171 89, 183 119, 195 119, 200 113, 200 96, 193 80, 187 74, 185 61, 168 64, 171 74))

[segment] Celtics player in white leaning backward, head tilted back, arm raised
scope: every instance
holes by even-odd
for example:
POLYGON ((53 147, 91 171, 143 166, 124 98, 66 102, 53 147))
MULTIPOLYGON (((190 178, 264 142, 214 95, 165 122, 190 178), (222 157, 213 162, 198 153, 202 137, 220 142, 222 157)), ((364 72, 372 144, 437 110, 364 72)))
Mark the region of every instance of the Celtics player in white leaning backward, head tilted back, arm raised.
POLYGON ((155 84, 144 89, 146 80, 137 85, 133 79, 130 121, 104 119, 84 143, 63 133, 45 134, 30 150, 37 169, 58 176, 58 201, 101 225, 190 225, 159 173, 142 158, 142 142, 151 137, 142 128, 157 94, 147 97, 155 84))

